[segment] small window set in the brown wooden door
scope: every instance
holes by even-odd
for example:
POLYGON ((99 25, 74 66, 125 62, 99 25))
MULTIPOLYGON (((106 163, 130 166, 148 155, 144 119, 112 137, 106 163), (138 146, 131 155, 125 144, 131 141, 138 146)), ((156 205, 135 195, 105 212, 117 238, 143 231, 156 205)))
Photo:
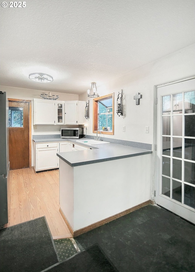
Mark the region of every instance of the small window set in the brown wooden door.
POLYGON ((9 127, 23 127, 23 108, 9 107, 9 127))

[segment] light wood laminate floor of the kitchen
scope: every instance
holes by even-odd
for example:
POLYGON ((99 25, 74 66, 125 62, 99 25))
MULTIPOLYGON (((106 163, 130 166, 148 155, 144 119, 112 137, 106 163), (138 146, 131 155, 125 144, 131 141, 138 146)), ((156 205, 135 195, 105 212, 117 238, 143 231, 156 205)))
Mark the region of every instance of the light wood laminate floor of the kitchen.
POLYGON ((5 227, 45 216, 54 239, 72 237, 59 212, 59 170, 35 173, 24 168, 11 170, 10 177, 5 227))

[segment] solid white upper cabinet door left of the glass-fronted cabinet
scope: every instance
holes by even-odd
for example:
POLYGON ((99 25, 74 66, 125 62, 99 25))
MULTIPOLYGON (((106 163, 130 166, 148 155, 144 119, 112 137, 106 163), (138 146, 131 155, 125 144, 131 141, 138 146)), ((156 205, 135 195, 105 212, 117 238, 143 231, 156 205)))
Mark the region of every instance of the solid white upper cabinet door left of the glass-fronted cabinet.
POLYGON ((54 101, 34 99, 34 125, 54 125, 54 101))

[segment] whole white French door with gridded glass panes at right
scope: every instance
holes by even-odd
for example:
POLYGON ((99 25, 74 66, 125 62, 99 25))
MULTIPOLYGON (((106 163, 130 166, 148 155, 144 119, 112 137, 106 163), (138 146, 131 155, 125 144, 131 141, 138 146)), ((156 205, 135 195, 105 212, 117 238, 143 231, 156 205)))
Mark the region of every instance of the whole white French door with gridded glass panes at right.
POLYGON ((195 224, 195 78, 157 98, 156 203, 195 224))

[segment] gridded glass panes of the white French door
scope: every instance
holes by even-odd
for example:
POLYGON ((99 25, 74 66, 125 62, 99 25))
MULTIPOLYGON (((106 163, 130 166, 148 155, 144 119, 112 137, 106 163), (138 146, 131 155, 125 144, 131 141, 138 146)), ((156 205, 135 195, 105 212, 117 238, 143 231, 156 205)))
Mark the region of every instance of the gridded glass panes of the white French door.
POLYGON ((195 91, 161 96, 159 194, 195 209, 195 91))

